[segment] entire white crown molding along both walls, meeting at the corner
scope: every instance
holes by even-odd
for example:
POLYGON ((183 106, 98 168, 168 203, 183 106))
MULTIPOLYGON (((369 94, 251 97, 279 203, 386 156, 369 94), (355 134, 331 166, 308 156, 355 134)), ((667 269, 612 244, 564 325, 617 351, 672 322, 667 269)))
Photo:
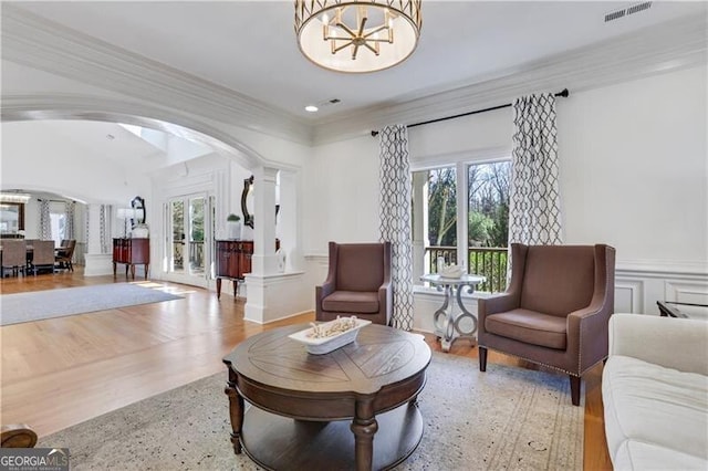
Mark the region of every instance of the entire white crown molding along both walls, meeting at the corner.
POLYGON ((413 124, 510 103, 517 96, 573 93, 707 63, 708 21, 680 18, 598 44, 475 77, 454 90, 421 91, 386 105, 304 122, 227 87, 2 6, 2 57, 136 101, 304 145, 361 137, 392 123, 413 124))

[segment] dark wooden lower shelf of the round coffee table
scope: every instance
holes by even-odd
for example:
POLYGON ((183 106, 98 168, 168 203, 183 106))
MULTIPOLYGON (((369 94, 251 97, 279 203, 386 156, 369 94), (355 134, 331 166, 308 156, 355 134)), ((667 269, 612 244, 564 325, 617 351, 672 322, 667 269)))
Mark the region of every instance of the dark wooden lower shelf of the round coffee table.
MULTIPOLYGON (((423 417, 407 402, 376 416, 374 470, 387 470, 408 458, 420 443, 423 417)), ((259 465, 269 470, 354 470, 354 433, 351 420, 305 421, 249 407, 243 418, 241 446, 259 465)))

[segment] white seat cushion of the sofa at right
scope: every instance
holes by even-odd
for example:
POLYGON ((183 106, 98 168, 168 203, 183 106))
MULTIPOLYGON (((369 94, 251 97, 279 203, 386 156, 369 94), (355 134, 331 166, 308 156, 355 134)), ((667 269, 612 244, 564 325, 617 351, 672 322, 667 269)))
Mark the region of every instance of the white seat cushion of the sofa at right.
POLYGON ((602 396, 612 457, 624 447, 622 453, 632 458, 636 447, 625 444, 632 440, 708 460, 708 377, 613 355, 603 370, 602 396))

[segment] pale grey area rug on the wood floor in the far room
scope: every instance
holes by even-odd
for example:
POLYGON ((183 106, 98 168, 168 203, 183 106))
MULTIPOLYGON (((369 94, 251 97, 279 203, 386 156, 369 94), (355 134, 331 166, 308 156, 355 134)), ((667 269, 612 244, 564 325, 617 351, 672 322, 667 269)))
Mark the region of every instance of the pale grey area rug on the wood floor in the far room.
POLYGON ((132 283, 3 294, 0 296, 0 325, 179 299, 181 296, 132 283))

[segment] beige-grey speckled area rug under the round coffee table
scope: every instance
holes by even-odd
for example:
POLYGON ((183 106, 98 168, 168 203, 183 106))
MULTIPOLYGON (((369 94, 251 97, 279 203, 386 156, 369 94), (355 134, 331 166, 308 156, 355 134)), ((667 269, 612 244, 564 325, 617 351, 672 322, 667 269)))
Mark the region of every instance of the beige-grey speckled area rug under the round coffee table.
MULTIPOLYGON (((425 428, 397 470, 581 470, 584 407, 568 377, 435 353, 419 396, 425 428)), ((40 439, 73 470, 257 470, 233 454, 223 374, 40 439)), ((374 440, 376 440, 374 438, 374 440)), ((324 467, 323 469, 326 469, 324 467)))

